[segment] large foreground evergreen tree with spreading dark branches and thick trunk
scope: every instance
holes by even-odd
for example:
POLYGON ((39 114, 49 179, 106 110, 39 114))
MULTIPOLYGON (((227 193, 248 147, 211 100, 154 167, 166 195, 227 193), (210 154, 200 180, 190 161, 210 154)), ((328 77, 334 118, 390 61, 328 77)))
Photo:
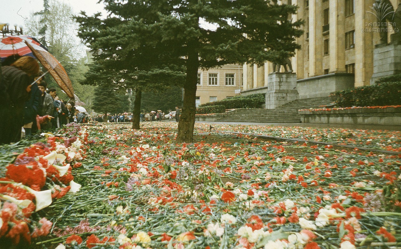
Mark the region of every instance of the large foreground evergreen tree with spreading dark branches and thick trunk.
POLYGON ((281 61, 294 56, 299 48, 295 39, 302 34, 298 30, 302 22, 288 20, 290 14, 296 13, 296 6, 271 0, 103 2, 110 14, 107 18, 101 20, 99 14, 88 17, 83 13, 78 21, 81 37, 89 46, 96 44, 93 48, 104 48, 100 54, 105 54, 105 60, 113 61, 126 54, 131 56, 132 63, 139 63, 138 67, 149 62, 185 66, 177 142, 192 142, 199 67, 281 61), (112 51, 107 51, 109 44, 115 44, 112 51))

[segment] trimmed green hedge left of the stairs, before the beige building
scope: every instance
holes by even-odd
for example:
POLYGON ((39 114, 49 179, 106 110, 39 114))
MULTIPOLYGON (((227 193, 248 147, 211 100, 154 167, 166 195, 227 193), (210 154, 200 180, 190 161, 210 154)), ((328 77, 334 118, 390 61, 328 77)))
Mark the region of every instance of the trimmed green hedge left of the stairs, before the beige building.
POLYGON ((247 96, 235 96, 219 101, 209 102, 200 105, 200 107, 223 105, 225 109, 237 109, 237 108, 261 108, 261 105, 265 103, 265 94, 257 93, 247 96))

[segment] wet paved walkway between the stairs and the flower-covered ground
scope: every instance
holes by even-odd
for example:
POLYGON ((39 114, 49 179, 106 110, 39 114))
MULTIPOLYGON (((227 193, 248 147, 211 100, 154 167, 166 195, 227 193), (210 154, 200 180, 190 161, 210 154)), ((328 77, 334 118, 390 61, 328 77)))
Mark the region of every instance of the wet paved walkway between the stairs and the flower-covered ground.
POLYGON ((207 121, 196 121, 196 123, 220 123, 220 124, 233 124, 233 125, 249 125, 249 126, 300 126, 300 127, 312 127, 312 128, 346 128, 352 130, 389 130, 389 131, 401 131, 401 125, 399 126, 383 126, 383 125, 363 125, 363 124, 326 124, 326 123, 254 123, 254 122, 207 122, 207 121))

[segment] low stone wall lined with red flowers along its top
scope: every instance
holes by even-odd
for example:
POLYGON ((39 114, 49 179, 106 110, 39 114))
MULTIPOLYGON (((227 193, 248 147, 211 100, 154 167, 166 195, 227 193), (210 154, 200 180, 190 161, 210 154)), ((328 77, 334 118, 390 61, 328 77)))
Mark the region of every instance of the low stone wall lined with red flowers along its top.
POLYGON ((350 107, 299 110, 302 123, 375 124, 401 126, 401 107, 350 107))

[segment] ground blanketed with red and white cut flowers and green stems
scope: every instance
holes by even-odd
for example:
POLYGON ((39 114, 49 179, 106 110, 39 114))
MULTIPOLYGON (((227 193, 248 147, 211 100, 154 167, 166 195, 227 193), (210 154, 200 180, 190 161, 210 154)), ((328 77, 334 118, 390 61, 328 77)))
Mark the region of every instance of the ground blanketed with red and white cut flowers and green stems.
MULTIPOLYGON (((381 149, 400 141, 397 132, 353 130, 350 141, 342 129, 213 126, 381 149)), ((0 237, 48 249, 401 245, 401 156, 229 136, 205 124, 194 143, 176 144, 175 122, 142 128, 70 126, 1 146, 0 237)))

